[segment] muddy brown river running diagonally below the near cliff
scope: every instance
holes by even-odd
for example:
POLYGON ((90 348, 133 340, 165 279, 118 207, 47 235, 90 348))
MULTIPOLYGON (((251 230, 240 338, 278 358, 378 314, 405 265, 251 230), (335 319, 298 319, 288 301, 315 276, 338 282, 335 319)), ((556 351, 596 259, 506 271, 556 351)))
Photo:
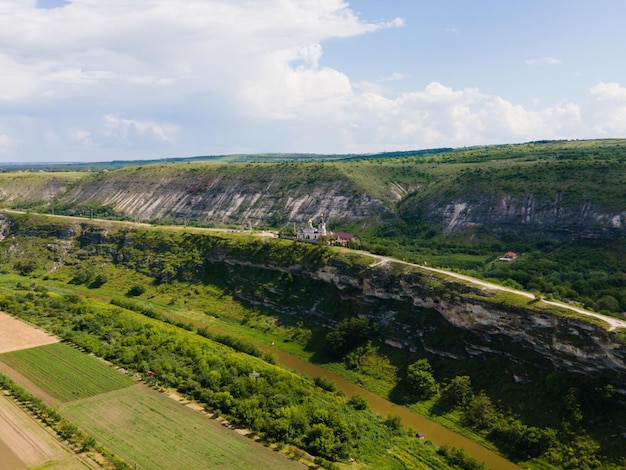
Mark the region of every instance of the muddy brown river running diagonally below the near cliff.
POLYGON ((343 392, 348 396, 358 393, 367 399, 372 411, 381 416, 387 416, 389 413, 399 416, 402 420, 402 424, 415 429, 417 432, 424 433, 424 437, 436 446, 448 444, 450 446, 462 448, 472 457, 485 462, 487 466, 493 470, 520 469, 518 465, 506 460, 504 457, 496 454, 486 447, 483 447, 482 445, 477 444, 476 442, 451 431, 422 415, 414 413, 404 406, 392 403, 389 400, 386 400, 385 398, 382 398, 337 374, 334 374, 333 372, 276 348, 263 347, 263 349, 275 354, 278 359, 278 363, 281 366, 296 370, 309 377, 319 377, 323 375, 335 382, 337 384, 337 388, 343 390, 343 392))

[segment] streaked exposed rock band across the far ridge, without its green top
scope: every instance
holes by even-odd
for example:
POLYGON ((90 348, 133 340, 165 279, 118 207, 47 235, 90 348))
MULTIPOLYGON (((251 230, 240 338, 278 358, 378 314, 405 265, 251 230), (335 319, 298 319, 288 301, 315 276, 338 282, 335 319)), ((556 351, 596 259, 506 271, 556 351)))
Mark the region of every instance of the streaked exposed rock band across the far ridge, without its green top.
MULTIPOLYGON (((587 188, 585 194, 590 196, 585 199, 573 197, 572 190, 564 195, 552 189, 551 179, 536 183, 537 191, 520 192, 516 187, 507 192, 503 181, 511 176, 506 174, 494 173, 493 181, 466 189, 464 185, 473 181, 469 176, 411 182, 406 176, 410 167, 403 169, 405 173, 400 172, 398 179, 381 164, 380 169, 370 169, 379 172, 370 181, 367 175, 351 178, 346 168, 304 163, 180 164, 72 177, 3 176, 0 202, 47 210, 56 207, 57 211, 107 206, 137 220, 177 223, 282 226, 303 224, 323 213, 333 221, 370 226, 372 221, 398 226, 426 221, 445 235, 471 236, 484 231, 551 240, 626 237, 623 203, 611 206, 600 202, 602 198, 594 199, 597 192, 593 188, 587 188), (444 183, 448 186, 440 191, 444 183), (490 184, 499 186, 498 191, 485 192, 490 184)), ((575 187, 575 182, 568 184, 575 187)), ((619 189, 611 194, 613 200, 621 197, 619 189)))

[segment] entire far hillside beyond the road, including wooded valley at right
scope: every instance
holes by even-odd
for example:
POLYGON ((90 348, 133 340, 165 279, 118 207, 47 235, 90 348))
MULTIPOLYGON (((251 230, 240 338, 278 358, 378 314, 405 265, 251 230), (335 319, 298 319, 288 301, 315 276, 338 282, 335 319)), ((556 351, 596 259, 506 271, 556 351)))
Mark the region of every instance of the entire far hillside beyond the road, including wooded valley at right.
POLYGON ((0 204, 35 212, 286 231, 324 214, 375 252, 612 313, 626 311, 625 201, 626 139, 0 174, 0 204))

